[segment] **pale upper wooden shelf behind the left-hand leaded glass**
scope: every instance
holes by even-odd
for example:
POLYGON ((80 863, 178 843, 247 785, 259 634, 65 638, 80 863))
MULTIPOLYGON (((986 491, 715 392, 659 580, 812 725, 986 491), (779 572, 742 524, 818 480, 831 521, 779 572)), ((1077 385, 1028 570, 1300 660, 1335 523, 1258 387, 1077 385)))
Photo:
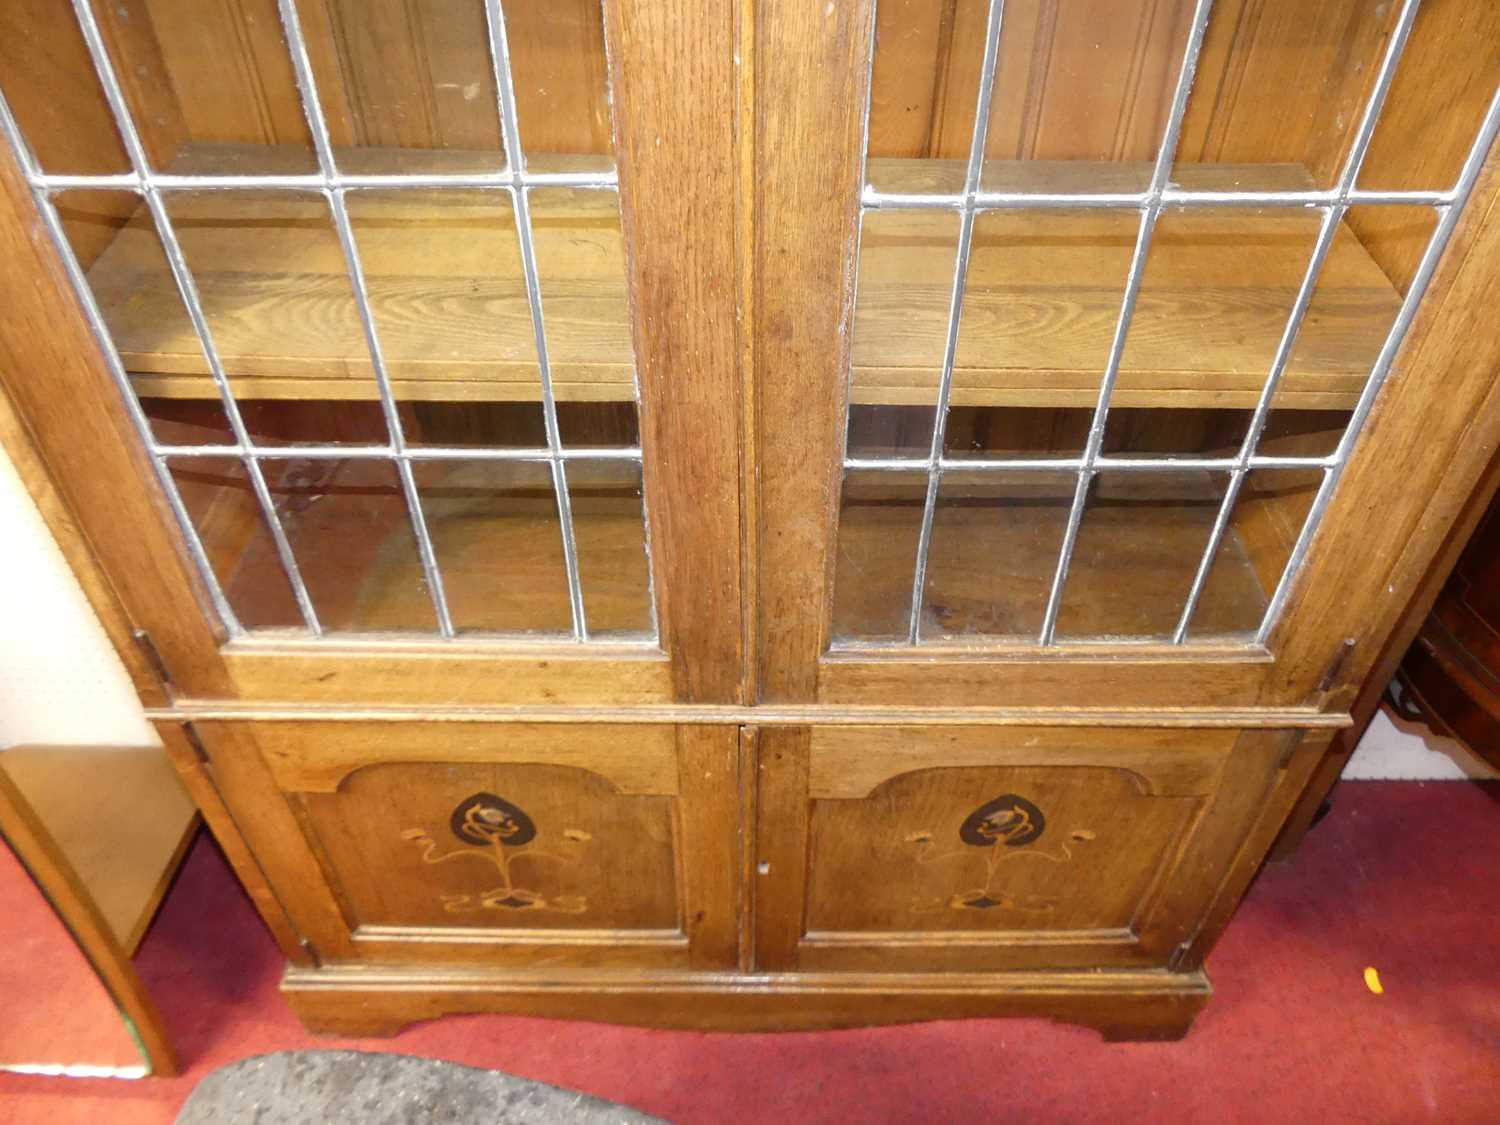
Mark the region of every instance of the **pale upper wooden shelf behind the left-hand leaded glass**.
MULTIPOLYGON (((351 150, 352 152, 352 150, 351 150)), ((362 150, 362 171, 474 171, 420 152, 362 150)), ((192 147, 172 171, 308 172, 291 150, 192 147), (270 153, 261 156, 261 153, 270 153)), ((536 160, 532 162, 537 164, 536 160)), ((548 171, 580 159, 549 158, 548 171)), ((597 160, 596 160, 597 164, 597 160)), ((528 402, 540 396, 514 225, 495 194, 350 196, 381 346, 398 398, 528 402)), ((63 200, 68 206, 68 200, 63 200)), ((614 192, 532 194, 532 228, 561 402, 634 400, 626 262, 614 192)), ((374 399, 374 372, 327 204, 310 194, 174 195, 170 210, 214 344, 244 399, 374 399)), ((90 280, 142 394, 212 399, 208 366, 182 310, 150 218, 99 255, 90 280)))

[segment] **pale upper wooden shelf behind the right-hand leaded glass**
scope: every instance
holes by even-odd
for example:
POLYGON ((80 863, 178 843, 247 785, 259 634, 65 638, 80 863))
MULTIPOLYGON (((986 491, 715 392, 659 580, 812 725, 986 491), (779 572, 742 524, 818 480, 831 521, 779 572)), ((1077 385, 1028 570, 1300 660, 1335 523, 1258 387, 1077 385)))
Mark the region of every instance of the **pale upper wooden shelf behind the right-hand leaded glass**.
MULTIPOLYGON (((952 188, 951 162, 876 160, 884 190, 952 188)), ((987 165, 1004 190, 1142 190, 1149 168, 1082 162, 987 165)), ((1194 189, 1311 190, 1298 165, 1200 165, 1194 189)), ((1312 250, 1306 208, 1167 212, 1156 225, 1113 404, 1256 405, 1312 250)), ((957 216, 880 212, 866 220, 854 326, 854 400, 930 404, 952 291, 957 216)), ((987 212, 974 248, 954 357, 957 406, 1092 406, 1120 309, 1138 218, 1114 212, 987 212)), ((1348 410, 1400 296, 1341 226, 1278 405, 1348 410)))

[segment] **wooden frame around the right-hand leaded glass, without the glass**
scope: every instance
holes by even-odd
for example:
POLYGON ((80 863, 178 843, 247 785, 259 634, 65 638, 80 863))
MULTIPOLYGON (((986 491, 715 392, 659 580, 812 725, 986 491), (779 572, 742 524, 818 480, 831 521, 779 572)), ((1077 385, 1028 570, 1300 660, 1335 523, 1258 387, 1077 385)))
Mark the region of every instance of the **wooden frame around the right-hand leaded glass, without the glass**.
POLYGON ((753 650, 776 704, 1346 711, 1500 444, 1500 147, 1428 288, 1280 621, 1260 646, 828 651, 870 3, 760 0, 754 26, 759 543, 753 650), (786 94, 786 96, 783 96, 786 94), (795 94, 795 96, 792 96, 795 94), (1371 542, 1371 526, 1380 528, 1371 542))

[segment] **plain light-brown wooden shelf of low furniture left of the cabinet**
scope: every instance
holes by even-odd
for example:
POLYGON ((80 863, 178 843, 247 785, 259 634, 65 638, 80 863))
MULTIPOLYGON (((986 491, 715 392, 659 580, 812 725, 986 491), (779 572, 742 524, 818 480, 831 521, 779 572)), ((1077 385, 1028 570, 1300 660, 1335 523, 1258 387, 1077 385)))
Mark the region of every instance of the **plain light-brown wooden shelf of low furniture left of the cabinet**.
POLYGON ((27 746, 0 753, 0 770, 120 948, 135 952, 198 828, 198 810, 166 754, 153 747, 27 746))

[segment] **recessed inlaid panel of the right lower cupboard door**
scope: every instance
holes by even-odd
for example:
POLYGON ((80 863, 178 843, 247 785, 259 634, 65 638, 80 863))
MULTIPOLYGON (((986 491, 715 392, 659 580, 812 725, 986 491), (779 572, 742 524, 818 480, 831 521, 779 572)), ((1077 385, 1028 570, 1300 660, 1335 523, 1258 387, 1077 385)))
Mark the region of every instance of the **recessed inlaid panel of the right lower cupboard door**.
POLYGON ((807 928, 1126 930, 1200 804, 1078 766, 920 770, 814 801, 807 928))

